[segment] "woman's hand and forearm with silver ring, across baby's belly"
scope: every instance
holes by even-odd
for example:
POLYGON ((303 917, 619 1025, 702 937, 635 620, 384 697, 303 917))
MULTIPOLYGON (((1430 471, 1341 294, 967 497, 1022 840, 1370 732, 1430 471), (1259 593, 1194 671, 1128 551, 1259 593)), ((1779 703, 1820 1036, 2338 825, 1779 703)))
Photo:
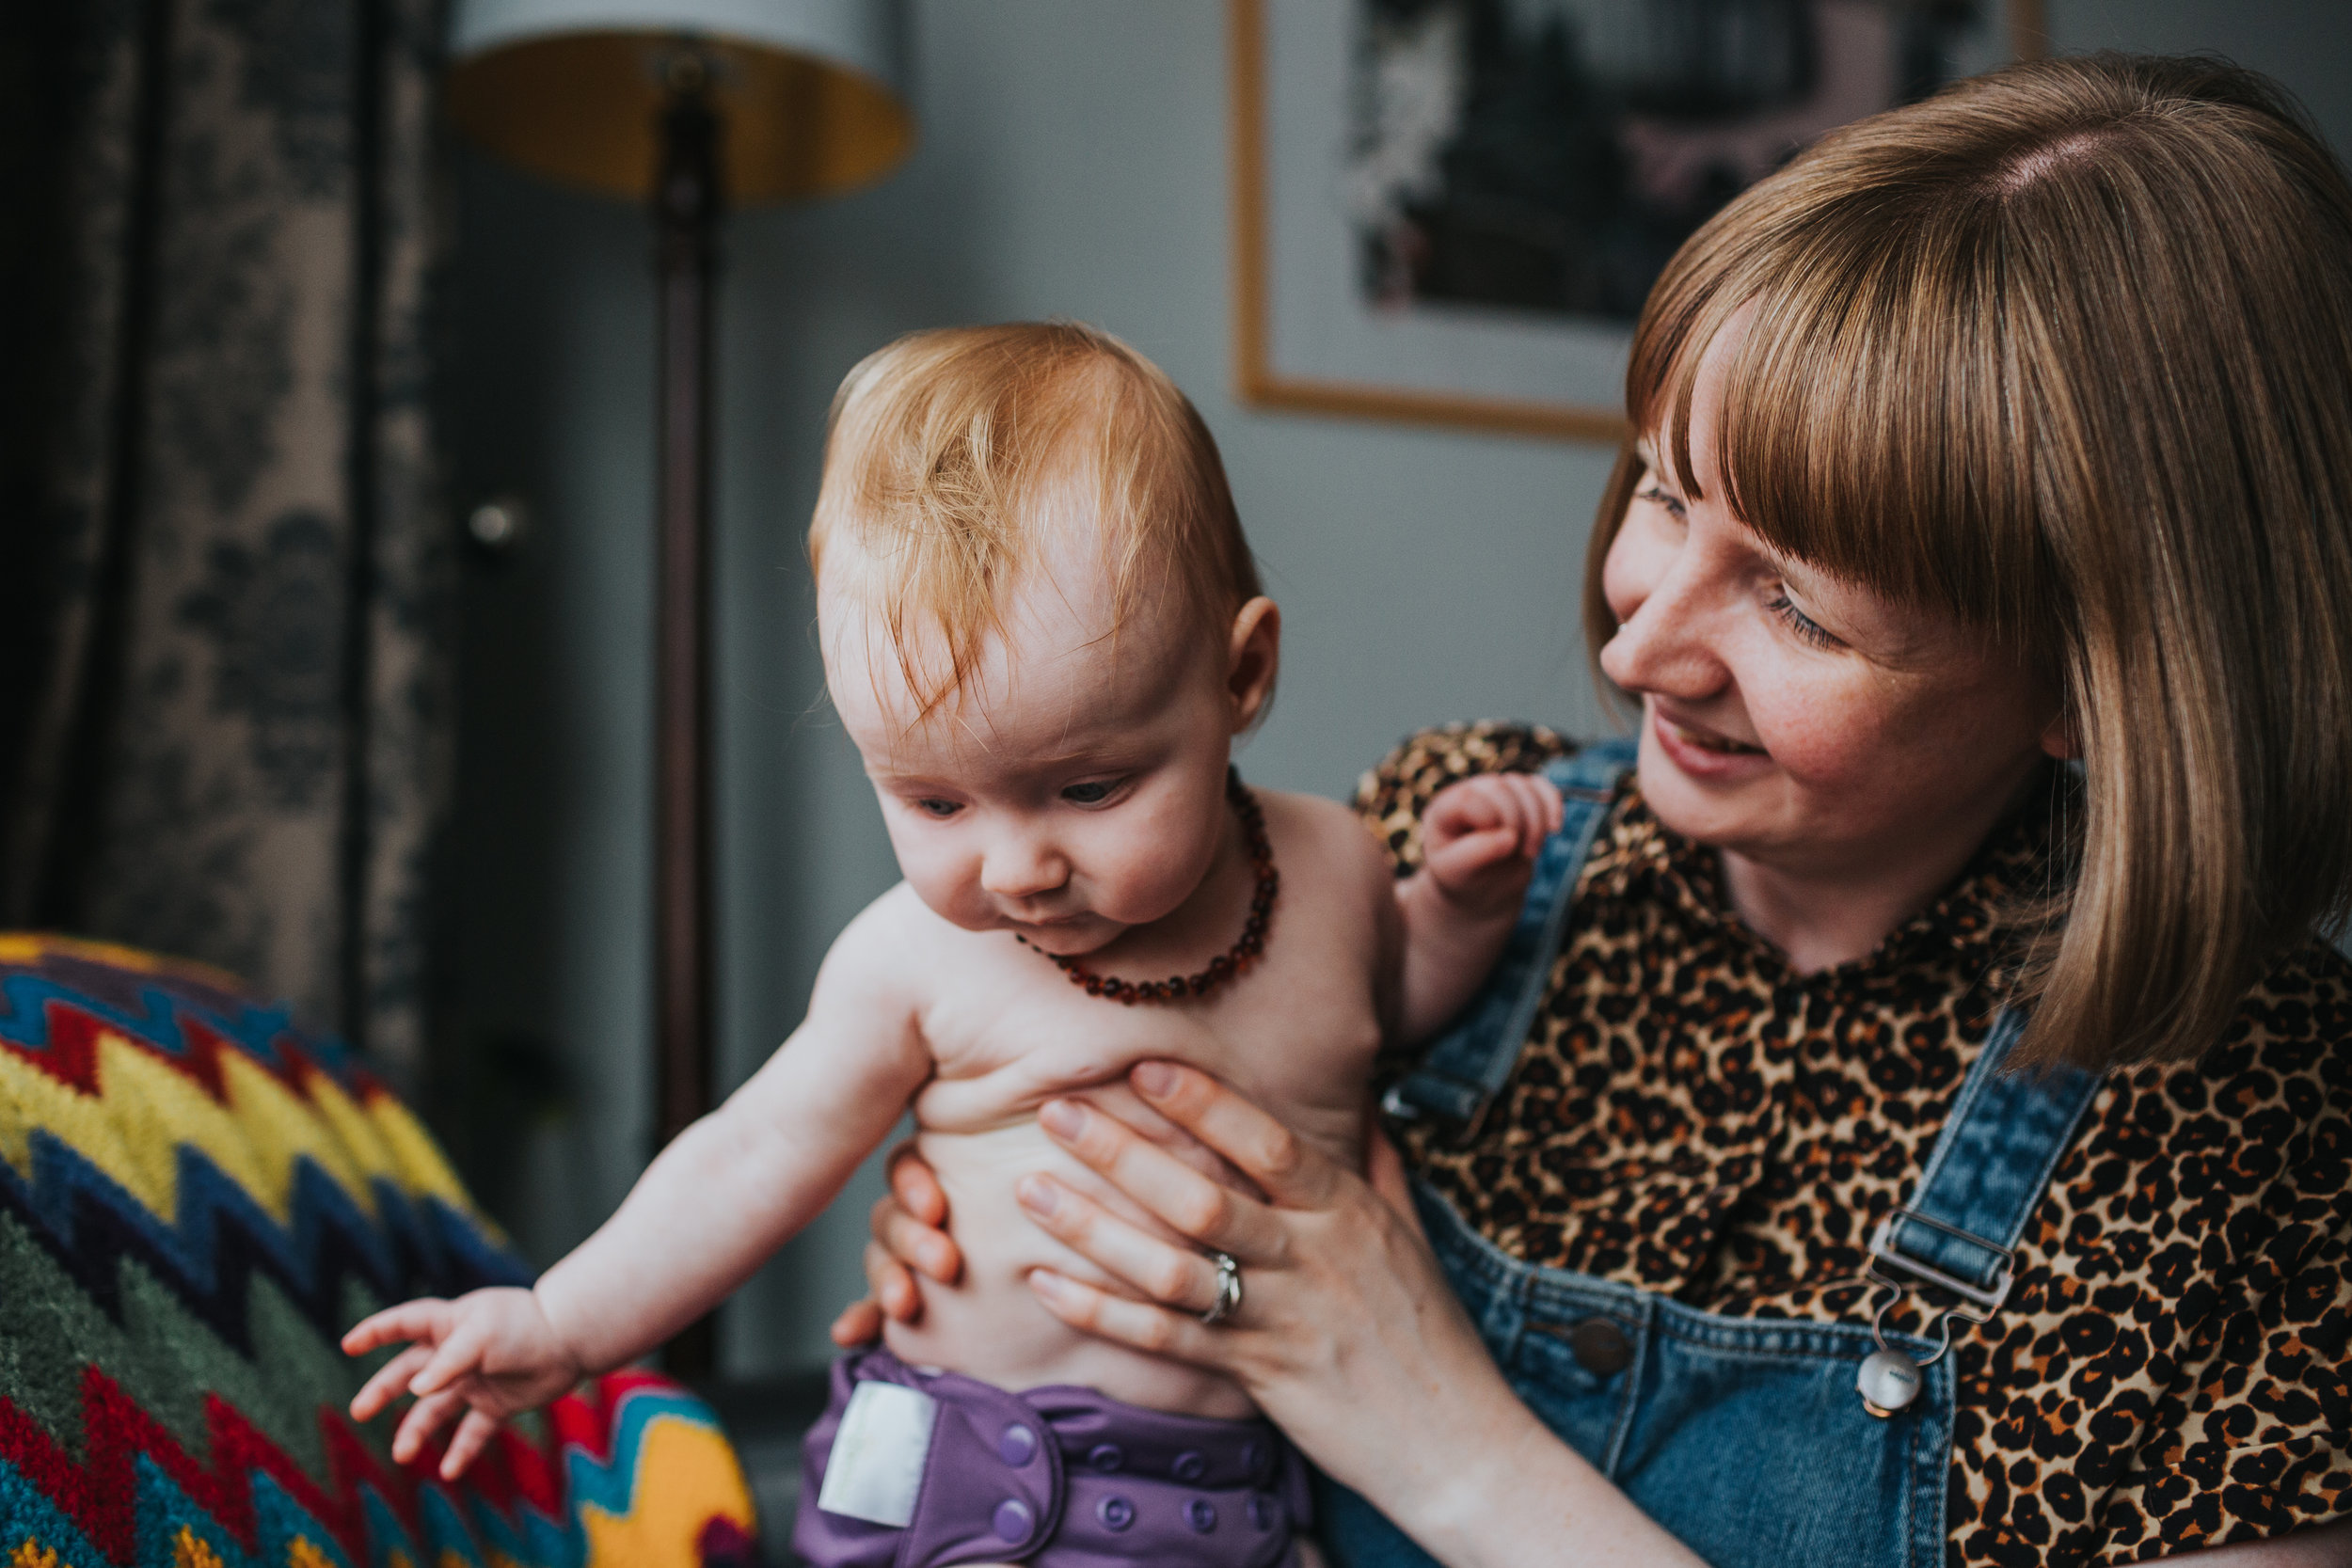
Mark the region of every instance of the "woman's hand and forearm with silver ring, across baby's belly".
POLYGON ((1138 1293, 1037 1269, 1030 1288, 1049 1312, 1235 1378, 1324 1472, 1446 1563, 1696 1561, 1496 1373, 1411 1218, 1395 1150, 1374 1140, 1383 1197, 1202 1072, 1143 1063, 1129 1081, 1268 1201, 1209 1180, 1080 1100, 1054 1100, 1037 1119, 1171 1229, 1230 1253, 1242 1305, 1202 1324, 1218 1284, 1202 1251, 1145 1234, 1051 1175, 1028 1175, 1018 1197, 1030 1218, 1138 1293))

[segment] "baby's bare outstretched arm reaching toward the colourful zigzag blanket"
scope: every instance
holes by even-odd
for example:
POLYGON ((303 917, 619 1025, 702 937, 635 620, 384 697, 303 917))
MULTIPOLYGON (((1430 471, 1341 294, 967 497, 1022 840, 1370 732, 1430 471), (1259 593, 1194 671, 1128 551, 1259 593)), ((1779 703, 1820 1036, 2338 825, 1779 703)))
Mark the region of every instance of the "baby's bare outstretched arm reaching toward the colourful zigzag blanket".
POLYGON ((454 1479, 499 1420, 661 1345, 816 1218, 931 1072, 896 929, 906 910, 889 905, 833 945, 783 1048, 680 1133, 539 1286, 405 1302, 343 1335, 346 1354, 409 1340, 350 1401, 353 1418, 416 1394, 393 1439, 407 1462, 463 1408, 442 1460, 454 1479))

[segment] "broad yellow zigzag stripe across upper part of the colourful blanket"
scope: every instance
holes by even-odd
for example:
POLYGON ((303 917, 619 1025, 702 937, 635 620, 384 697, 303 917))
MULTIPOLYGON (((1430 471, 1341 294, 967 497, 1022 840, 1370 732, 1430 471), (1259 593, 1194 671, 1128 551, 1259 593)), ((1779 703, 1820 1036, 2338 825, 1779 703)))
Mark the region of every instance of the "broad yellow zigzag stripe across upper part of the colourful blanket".
POLYGON ((280 1225, 292 1222, 294 1164, 306 1157, 372 1218, 374 1178, 475 1213, 397 1098, 362 1105, 325 1072, 306 1074, 308 1093, 296 1093, 233 1046, 219 1063, 226 1105, 113 1030, 96 1039, 94 1095, 0 1051, 0 1159, 31 1175, 33 1128, 47 1128, 167 1222, 179 1218, 179 1145, 202 1150, 280 1225))

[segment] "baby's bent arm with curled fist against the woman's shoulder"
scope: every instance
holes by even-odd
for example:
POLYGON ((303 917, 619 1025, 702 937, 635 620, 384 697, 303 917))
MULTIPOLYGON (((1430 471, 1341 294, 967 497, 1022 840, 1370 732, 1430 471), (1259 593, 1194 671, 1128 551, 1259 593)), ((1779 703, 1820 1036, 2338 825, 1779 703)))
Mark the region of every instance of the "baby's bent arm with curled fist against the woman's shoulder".
POLYGON ((1404 917, 1399 1034, 1435 1034, 1503 957, 1536 851, 1559 830, 1559 790, 1536 773, 1479 773, 1421 813, 1421 870, 1397 884, 1404 917))

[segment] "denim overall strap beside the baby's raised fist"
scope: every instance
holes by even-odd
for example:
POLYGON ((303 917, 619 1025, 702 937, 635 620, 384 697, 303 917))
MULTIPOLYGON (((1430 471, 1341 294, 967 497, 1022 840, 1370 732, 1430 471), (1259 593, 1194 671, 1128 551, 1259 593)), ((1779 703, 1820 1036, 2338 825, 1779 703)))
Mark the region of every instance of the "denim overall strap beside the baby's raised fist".
POLYGON ((1576 877, 1592 853, 1592 835, 1616 802, 1618 780, 1632 771, 1635 750, 1635 741, 1602 741, 1543 769, 1566 811, 1559 832, 1536 856, 1536 875, 1526 884, 1503 959, 1470 1006, 1437 1037, 1421 1067, 1388 1091, 1388 1114, 1406 1121, 1442 1117, 1456 1124, 1461 1138, 1472 1138, 1486 1121, 1486 1107, 1510 1081, 1536 1023, 1552 954, 1559 952, 1569 905, 1576 903, 1576 877))

